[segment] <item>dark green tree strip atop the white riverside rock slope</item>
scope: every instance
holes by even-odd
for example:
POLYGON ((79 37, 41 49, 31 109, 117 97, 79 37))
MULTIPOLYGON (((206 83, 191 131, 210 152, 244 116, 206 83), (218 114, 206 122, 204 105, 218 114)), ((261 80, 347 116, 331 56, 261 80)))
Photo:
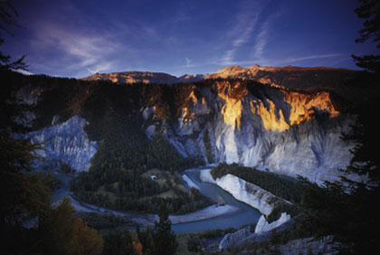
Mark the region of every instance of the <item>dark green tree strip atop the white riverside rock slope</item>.
POLYGON ((223 175, 235 175, 244 181, 255 184, 262 189, 283 198, 291 203, 299 203, 302 194, 302 185, 295 180, 279 175, 263 172, 252 167, 240 166, 237 164, 227 165, 222 163, 213 168, 211 175, 213 178, 220 178, 223 175))

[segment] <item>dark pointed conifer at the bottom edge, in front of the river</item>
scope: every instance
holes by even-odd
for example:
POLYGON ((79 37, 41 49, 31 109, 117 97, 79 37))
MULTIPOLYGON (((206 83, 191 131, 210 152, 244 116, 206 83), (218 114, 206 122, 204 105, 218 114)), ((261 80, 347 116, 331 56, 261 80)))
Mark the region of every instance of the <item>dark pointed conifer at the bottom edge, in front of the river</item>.
POLYGON ((156 255, 172 255, 176 253, 176 235, 172 231, 172 222, 169 220, 166 205, 161 204, 158 213, 159 222, 154 227, 154 252, 156 255))

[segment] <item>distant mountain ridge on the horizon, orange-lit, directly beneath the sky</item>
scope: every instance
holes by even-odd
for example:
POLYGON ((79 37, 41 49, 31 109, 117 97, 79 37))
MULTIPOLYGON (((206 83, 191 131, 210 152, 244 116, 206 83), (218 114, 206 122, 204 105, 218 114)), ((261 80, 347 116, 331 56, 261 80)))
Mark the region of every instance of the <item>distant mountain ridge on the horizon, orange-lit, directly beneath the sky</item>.
POLYGON ((348 80, 356 78, 359 71, 345 68, 325 66, 298 67, 298 66, 260 66, 252 65, 243 68, 238 65, 223 67, 210 74, 185 74, 180 77, 165 72, 152 71, 122 71, 111 73, 95 73, 82 80, 110 80, 116 83, 159 83, 174 84, 195 82, 206 79, 238 79, 257 80, 271 87, 296 90, 336 90, 345 93, 342 89, 348 80))

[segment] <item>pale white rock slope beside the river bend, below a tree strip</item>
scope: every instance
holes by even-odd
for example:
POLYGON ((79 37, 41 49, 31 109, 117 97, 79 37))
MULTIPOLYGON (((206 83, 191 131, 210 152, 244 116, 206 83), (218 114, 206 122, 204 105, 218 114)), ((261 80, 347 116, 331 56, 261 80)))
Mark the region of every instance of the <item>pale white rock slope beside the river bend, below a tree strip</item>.
POLYGON ((269 202, 278 199, 275 195, 261 189, 259 186, 247 183, 234 175, 224 175, 222 178, 214 180, 213 176, 210 175, 210 171, 201 171, 200 178, 203 182, 217 184, 223 190, 232 194, 235 199, 251 205, 259 210, 260 213, 265 215, 271 214, 274 203, 269 202))

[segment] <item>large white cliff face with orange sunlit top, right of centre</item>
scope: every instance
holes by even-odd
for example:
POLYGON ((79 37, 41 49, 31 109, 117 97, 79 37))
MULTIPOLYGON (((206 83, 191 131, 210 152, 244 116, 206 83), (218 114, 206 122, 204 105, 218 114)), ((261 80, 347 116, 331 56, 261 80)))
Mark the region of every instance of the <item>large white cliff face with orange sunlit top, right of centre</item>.
MULTIPOLYGON (((253 95, 236 84, 221 81, 211 89, 195 88, 173 125, 160 126, 148 110, 144 118, 156 123, 156 132, 164 130, 183 156, 206 159, 208 146, 213 160, 206 163, 237 163, 290 177, 302 175, 317 183, 339 179, 338 169, 349 165, 354 146, 341 136, 354 118, 340 115, 327 92, 261 88, 253 95)), ((149 128, 147 134, 151 133, 149 128)))

